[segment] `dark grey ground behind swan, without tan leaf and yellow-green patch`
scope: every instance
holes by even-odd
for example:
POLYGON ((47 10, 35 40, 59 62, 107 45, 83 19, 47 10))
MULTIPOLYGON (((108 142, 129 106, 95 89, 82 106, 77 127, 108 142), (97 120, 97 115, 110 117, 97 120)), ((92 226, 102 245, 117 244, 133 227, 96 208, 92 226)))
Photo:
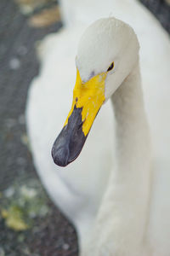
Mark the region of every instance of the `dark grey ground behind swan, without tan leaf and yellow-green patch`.
MULTIPOLYGON (((160 0, 141 2, 170 32, 167 4, 160 0)), ((25 231, 11 230, 0 217, 0 256, 76 256, 76 233, 41 187, 27 147, 25 125, 27 90, 39 70, 35 43, 49 32, 57 32, 62 24, 36 29, 27 25, 28 18, 14 1, 0 1, 0 216, 2 209, 16 200, 11 193, 14 184, 18 189, 33 186, 50 210, 43 217, 37 215, 25 231), (32 185, 34 181, 36 185, 32 185)))

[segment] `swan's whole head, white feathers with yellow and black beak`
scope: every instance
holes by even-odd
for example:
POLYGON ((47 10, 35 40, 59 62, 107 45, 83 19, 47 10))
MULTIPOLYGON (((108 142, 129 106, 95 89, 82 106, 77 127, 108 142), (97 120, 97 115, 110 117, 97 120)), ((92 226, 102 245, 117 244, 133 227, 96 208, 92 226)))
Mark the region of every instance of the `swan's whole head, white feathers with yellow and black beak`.
POLYGON ((83 33, 71 111, 52 148, 55 164, 67 166, 77 158, 99 109, 131 73, 138 58, 138 39, 122 20, 100 19, 83 33))

